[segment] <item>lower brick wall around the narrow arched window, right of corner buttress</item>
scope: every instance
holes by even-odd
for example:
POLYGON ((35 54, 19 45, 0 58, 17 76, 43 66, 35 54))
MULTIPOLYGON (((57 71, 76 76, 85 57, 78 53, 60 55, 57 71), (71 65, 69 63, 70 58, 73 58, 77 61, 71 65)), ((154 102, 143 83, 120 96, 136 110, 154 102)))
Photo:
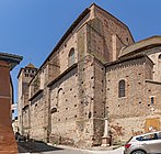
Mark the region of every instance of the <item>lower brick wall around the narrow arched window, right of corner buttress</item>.
POLYGON ((106 108, 110 129, 116 140, 127 140, 133 133, 143 132, 143 119, 149 113, 145 86, 150 75, 147 76, 146 68, 150 67, 152 69, 147 57, 106 67, 106 108), (118 98, 120 79, 125 80, 125 97, 118 98))

